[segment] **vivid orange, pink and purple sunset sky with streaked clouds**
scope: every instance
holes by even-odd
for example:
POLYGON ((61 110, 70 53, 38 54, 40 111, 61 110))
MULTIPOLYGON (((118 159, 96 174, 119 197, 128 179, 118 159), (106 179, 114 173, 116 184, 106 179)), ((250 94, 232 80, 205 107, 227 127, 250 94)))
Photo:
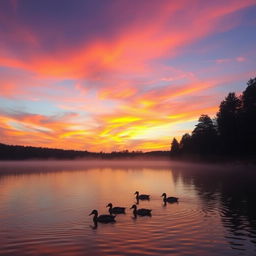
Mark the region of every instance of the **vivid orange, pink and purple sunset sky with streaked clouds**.
POLYGON ((1 0, 0 143, 169 150, 256 76, 256 0, 1 0))

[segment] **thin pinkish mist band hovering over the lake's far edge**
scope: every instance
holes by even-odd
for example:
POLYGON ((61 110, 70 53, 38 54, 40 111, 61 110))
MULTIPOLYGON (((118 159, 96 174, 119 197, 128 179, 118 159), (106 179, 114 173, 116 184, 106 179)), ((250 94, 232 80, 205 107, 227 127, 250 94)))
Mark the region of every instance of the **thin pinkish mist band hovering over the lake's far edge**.
POLYGON ((193 163, 171 160, 23 160, 0 161, 0 173, 49 172, 65 170, 86 170, 91 168, 112 169, 176 169, 183 171, 235 172, 254 171, 255 165, 242 163, 193 163))

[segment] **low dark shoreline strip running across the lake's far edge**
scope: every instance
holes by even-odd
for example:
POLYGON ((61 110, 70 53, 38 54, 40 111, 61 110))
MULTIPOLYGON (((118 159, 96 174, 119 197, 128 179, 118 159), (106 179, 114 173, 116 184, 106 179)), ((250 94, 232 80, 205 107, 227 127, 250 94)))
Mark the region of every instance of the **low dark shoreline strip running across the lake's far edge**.
POLYGON ((82 150, 65 150, 31 146, 16 146, 0 143, 0 161, 58 161, 58 160, 80 160, 107 162, 109 160, 134 160, 134 161, 166 161, 179 163, 195 163, 195 164, 256 164, 255 156, 222 156, 208 155, 201 156, 199 154, 187 154, 180 156, 171 156, 170 151, 114 151, 105 152, 89 152, 82 150))

